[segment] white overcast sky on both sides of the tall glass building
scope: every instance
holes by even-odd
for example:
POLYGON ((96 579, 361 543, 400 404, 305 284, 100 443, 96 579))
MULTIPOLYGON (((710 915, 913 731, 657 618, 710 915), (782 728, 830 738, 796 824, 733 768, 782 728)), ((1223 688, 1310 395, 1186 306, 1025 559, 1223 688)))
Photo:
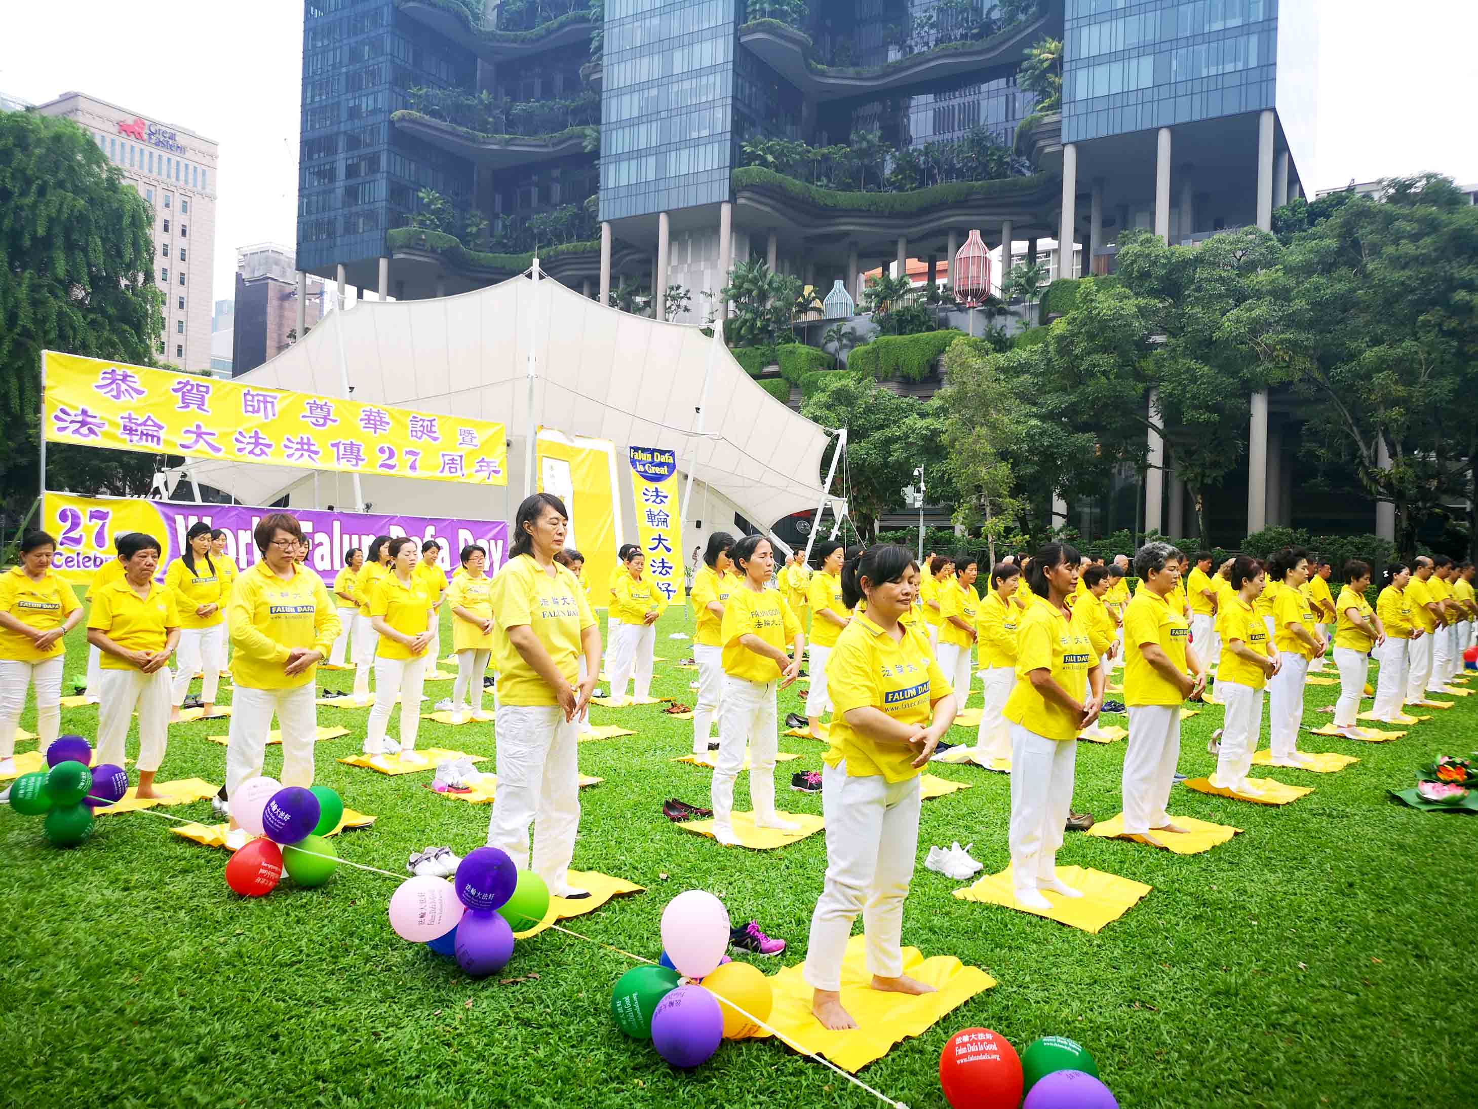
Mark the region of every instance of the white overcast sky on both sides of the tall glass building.
MULTIPOLYGON (((1283 3, 1323 4, 1314 188, 1422 170, 1478 182, 1463 123, 1475 0, 1283 3)), ((294 243, 302 0, 4 7, 0 92, 84 92, 220 143, 216 299, 232 294, 236 247, 294 243)))

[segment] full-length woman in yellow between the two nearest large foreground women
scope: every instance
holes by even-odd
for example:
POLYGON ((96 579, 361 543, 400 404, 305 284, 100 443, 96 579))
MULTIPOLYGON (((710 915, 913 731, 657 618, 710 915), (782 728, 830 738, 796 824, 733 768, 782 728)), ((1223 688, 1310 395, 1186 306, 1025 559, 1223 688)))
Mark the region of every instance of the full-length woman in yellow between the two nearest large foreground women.
MULTIPOLYGON (((729 594, 718 631, 723 643, 724 716, 718 722, 718 759, 714 766, 711 806, 714 838, 726 847, 739 843, 733 828, 735 782, 749 750, 749 801, 757 828, 795 831, 797 824, 774 810, 774 754, 779 730, 774 708, 777 689, 801 673, 806 634, 779 590, 766 589, 774 577, 774 554, 763 535, 745 535, 729 552, 743 578, 729 594), (785 648, 794 646, 788 655, 785 648)), ((811 680, 814 680, 814 674, 811 680)))

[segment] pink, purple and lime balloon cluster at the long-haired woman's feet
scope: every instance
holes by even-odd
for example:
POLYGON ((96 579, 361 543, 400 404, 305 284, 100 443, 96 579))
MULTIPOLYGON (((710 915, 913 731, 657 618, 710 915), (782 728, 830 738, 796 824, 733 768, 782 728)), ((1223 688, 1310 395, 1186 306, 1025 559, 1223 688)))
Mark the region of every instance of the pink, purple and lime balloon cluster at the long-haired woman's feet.
POLYGON ((513 958, 513 933, 544 920, 550 890, 520 871, 507 852, 477 847, 457 865, 454 881, 406 878, 390 896, 390 927, 401 939, 455 958, 471 977, 488 977, 513 958))

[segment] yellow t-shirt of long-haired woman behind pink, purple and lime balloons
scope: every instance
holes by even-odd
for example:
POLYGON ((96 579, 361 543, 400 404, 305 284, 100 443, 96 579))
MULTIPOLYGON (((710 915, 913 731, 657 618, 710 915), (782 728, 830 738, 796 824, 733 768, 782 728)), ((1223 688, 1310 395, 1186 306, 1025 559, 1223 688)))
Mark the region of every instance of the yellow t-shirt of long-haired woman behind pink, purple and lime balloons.
POLYGON ((492 580, 488 600, 498 621, 492 636, 492 662, 498 673, 500 704, 559 704, 554 691, 513 646, 508 628, 532 628, 571 688, 579 677, 581 636, 596 624, 596 617, 575 575, 559 563, 554 563, 554 571, 550 577, 532 554, 520 554, 504 563, 492 580))

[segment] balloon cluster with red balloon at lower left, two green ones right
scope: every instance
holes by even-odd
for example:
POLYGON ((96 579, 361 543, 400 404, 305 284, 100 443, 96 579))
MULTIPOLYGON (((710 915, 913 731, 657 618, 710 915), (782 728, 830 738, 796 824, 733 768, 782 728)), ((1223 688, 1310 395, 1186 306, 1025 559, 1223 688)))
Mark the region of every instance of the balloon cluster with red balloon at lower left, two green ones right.
POLYGON ((343 815, 343 798, 325 785, 248 778, 231 797, 231 816, 256 838, 231 856, 226 884, 244 898, 265 898, 285 871, 299 886, 322 886, 338 868, 338 852, 325 837, 343 815))

